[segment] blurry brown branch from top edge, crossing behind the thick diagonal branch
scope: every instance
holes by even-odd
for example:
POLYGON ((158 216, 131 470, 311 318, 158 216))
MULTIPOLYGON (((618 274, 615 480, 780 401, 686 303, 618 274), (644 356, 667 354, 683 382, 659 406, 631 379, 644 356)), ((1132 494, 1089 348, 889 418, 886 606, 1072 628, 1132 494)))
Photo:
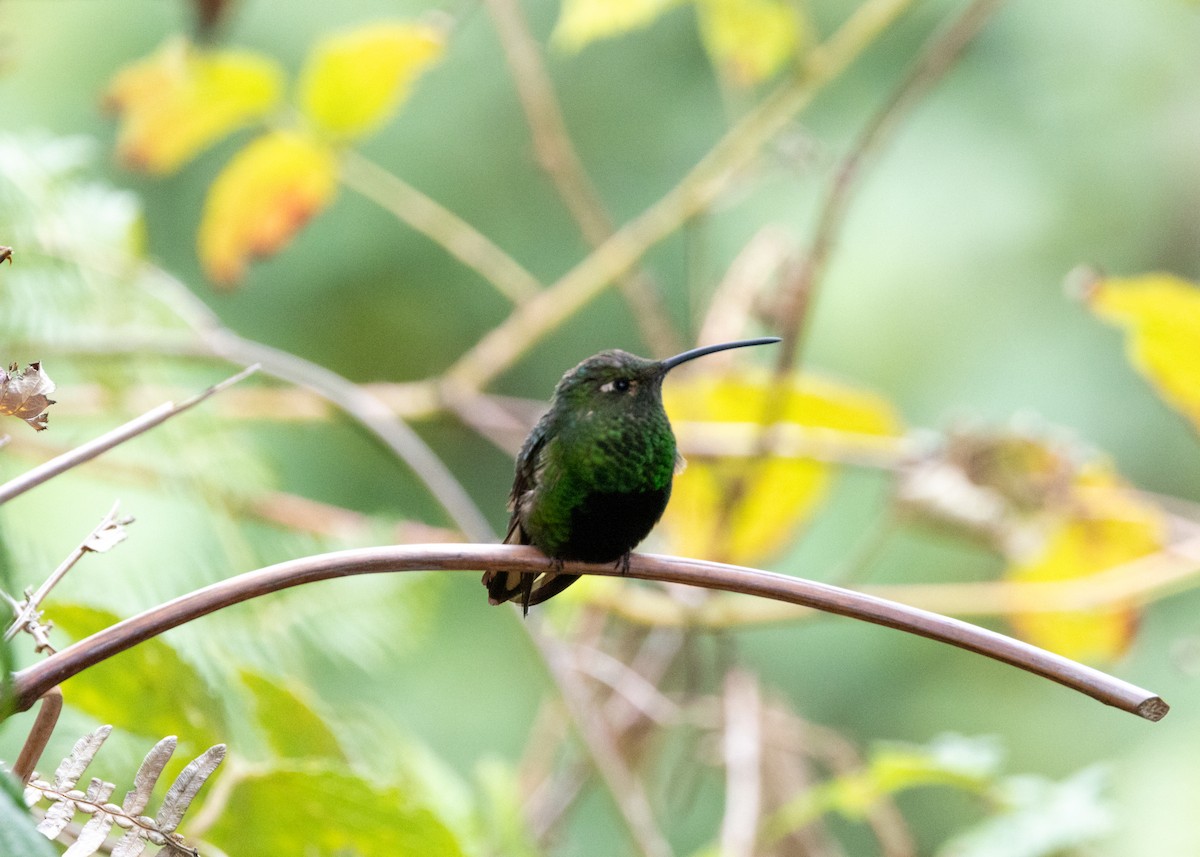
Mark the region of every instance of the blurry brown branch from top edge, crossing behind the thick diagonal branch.
MULTIPOLYGON (((554 184, 583 239, 599 247, 612 236, 612 220, 571 144, 538 42, 529 32, 516 0, 486 0, 486 5, 512 72, 538 163, 554 184)), ((683 350, 683 342, 666 312, 658 284, 647 274, 623 274, 617 277, 617 286, 632 310, 642 338, 655 356, 683 350)))

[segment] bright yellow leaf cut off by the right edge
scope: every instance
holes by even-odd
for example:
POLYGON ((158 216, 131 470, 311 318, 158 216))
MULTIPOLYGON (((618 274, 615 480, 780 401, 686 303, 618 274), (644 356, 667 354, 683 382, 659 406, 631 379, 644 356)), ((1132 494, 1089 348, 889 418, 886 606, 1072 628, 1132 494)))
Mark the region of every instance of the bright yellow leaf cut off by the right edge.
POLYGON ((1126 329, 1129 360, 1200 431, 1200 287, 1170 274, 1100 280, 1088 302, 1126 329))

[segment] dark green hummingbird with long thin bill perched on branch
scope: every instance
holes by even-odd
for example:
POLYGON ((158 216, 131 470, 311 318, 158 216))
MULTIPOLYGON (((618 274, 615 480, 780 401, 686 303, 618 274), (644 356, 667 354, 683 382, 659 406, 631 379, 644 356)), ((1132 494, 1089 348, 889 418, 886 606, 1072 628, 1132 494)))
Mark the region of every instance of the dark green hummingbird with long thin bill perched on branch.
POLYGON ((613 349, 569 370, 517 454, 504 537, 506 545, 538 547, 551 567, 485 571, 488 603, 520 597, 528 615, 529 605, 578 579, 562 573, 566 561, 628 571, 630 551, 659 522, 684 465, 662 408, 662 379, 698 356, 772 342, 779 337, 702 346, 666 360, 613 349))

